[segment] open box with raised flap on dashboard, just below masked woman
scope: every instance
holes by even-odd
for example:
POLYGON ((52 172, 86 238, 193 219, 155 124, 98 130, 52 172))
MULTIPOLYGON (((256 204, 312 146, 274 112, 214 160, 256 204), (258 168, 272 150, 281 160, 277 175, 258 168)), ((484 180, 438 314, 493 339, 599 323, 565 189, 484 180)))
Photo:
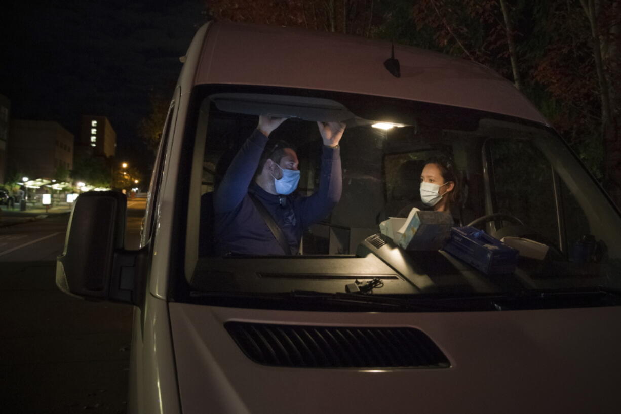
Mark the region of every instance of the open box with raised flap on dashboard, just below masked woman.
POLYGON ((453 217, 448 212, 412 209, 398 230, 399 245, 406 250, 440 250, 450 235, 453 217))

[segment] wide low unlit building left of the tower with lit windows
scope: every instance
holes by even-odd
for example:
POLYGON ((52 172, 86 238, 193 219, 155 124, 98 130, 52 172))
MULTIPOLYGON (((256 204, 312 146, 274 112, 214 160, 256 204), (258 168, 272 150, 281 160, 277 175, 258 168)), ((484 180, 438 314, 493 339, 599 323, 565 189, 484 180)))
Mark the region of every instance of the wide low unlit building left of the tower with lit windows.
POLYGON ((73 134, 58 122, 11 121, 12 168, 31 179, 53 178, 59 168, 73 168, 73 134))

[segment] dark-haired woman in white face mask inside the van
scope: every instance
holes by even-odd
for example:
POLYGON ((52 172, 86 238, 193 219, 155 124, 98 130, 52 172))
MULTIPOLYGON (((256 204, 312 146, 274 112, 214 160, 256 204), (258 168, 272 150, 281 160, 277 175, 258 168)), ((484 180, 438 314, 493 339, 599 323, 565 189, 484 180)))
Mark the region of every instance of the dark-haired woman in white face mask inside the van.
POLYGON ((407 217, 413 207, 420 210, 449 212, 455 217, 458 214, 456 207, 459 196, 458 184, 458 178, 450 162, 440 159, 428 161, 420 173, 420 202, 404 207, 399 212, 399 217, 407 217))

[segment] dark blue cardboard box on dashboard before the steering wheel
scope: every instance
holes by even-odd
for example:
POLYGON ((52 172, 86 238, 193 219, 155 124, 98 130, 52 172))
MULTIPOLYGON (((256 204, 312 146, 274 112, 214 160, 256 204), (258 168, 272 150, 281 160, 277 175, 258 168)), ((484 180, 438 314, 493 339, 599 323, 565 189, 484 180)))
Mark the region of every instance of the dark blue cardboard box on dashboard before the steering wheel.
POLYGON ((453 227, 444 250, 485 274, 515 271, 518 251, 474 227, 453 227))

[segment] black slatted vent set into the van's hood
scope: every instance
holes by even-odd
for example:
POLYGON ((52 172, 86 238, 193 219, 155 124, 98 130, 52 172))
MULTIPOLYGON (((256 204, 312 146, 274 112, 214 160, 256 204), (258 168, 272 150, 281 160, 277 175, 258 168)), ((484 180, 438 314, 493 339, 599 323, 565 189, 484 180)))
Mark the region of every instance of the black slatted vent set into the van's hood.
POLYGON ((293 326, 227 322, 258 364, 297 368, 448 368, 435 343, 414 328, 293 326))

